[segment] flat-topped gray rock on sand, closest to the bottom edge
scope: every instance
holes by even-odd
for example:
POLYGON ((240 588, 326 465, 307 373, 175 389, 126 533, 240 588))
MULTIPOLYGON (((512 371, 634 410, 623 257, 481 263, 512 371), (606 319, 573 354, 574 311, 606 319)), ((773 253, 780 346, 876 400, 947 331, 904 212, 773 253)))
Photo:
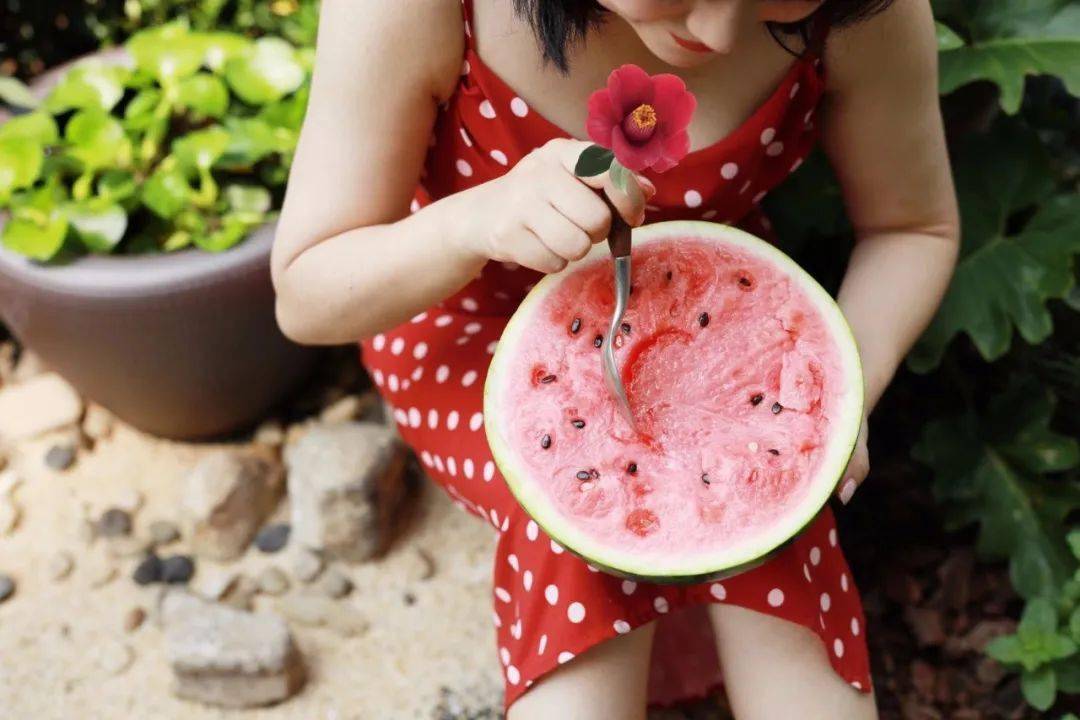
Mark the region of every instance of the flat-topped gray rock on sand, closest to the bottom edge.
POLYGON ((300 652, 278 615, 170 593, 162 619, 165 656, 180 697, 221 707, 258 707, 286 699, 303 685, 300 652))

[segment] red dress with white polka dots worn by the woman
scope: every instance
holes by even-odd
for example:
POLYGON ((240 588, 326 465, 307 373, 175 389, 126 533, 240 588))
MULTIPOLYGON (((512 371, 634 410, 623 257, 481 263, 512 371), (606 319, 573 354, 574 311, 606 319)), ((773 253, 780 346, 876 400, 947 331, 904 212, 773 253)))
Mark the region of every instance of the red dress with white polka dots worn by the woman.
MULTIPOLYGON (((463 0, 465 55, 441 108, 413 209, 498 177, 530 150, 566 134, 537 114, 475 52, 463 0)), ((768 234, 758 203, 815 141, 824 84, 814 52, 795 60, 772 95, 720 141, 662 175, 646 221, 704 218, 768 234)), ((858 590, 832 512, 767 563, 723 582, 635 583, 591 568, 544 535, 507 488, 484 435, 483 386, 510 315, 540 277, 489 262, 457 295, 363 343, 363 359, 428 473, 463 510, 499 533, 492 622, 509 707, 545 673, 590 647, 660 620, 650 699, 703 695, 719 681, 704 603, 728 602, 804 625, 836 673, 870 689, 858 590)))

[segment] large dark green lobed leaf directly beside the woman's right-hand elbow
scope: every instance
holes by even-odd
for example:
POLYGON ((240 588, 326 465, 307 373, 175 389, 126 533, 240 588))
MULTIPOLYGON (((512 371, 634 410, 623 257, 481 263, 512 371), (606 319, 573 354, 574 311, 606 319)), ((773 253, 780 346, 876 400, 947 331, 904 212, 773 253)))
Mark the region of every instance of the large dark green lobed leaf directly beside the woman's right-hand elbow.
POLYGON ((1010 232, 1016 210, 1051 195, 1053 179, 1037 137, 1014 125, 954 149, 963 246, 948 293, 908 357, 917 372, 934 368, 949 341, 967 332, 988 361, 1003 355, 1013 327, 1029 343, 1050 336, 1048 300, 1074 286, 1080 252, 1080 196, 1044 202, 1010 232))

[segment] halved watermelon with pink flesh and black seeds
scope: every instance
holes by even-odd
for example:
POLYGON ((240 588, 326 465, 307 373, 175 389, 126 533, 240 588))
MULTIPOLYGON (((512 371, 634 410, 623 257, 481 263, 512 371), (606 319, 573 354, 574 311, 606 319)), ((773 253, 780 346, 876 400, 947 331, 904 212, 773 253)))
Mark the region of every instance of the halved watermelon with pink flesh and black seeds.
POLYGON ((832 297, 728 226, 634 230, 616 359, 600 369, 611 263, 597 245, 507 325, 484 389, 511 491, 556 542, 616 574, 696 582, 747 569, 821 511, 855 446, 859 352, 832 297))

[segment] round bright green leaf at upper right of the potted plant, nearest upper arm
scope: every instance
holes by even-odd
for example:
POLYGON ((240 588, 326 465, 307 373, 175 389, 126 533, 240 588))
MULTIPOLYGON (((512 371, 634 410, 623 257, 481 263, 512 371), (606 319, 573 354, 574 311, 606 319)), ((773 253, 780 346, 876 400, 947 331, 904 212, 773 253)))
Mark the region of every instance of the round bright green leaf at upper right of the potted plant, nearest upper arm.
POLYGON ((297 90, 306 77, 296 50, 280 38, 260 38, 225 64, 225 79, 249 105, 280 100, 297 90))

